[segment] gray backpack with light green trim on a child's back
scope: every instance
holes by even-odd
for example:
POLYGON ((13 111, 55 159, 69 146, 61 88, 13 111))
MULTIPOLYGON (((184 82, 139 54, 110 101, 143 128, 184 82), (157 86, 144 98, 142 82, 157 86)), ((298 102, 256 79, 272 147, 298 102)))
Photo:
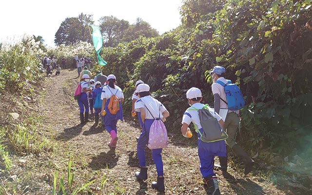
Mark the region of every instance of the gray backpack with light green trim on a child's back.
POLYGON ((194 126, 195 131, 200 135, 200 140, 203 142, 215 142, 227 139, 229 137, 220 126, 218 120, 209 112, 208 104, 204 105, 202 109, 196 109, 192 106, 188 110, 198 111, 200 125, 203 129, 203 133, 199 131, 195 124, 194 126))

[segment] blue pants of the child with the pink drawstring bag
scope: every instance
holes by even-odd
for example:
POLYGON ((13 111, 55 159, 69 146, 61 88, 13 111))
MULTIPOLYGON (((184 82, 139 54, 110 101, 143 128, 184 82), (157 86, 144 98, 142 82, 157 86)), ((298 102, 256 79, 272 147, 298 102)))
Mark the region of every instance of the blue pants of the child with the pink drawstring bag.
MULTIPOLYGON (((143 125, 143 131, 137 141, 137 157, 138 157, 138 162, 141 167, 146 166, 145 147, 148 144, 150 128, 153 122, 154 122, 154 119, 145 119, 145 124, 143 125)), ((162 148, 152 150, 152 156, 153 156, 154 163, 156 165, 157 176, 164 175, 163 163, 161 159, 161 151, 162 151, 162 148)))

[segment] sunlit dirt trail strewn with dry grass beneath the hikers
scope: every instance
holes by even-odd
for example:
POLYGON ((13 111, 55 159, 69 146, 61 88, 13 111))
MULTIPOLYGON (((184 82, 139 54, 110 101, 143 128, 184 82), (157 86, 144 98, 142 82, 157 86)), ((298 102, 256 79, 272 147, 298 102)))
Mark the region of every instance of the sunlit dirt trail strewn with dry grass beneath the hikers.
MULTIPOLYGON (((60 76, 53 76, 46 83, 46 92, 42 109, 47 116, 44 124, 51 129, 51 134, 62 148, 55 164, 59 167, 67 165, 70 156, 74 156, 73 172, 74 185, 86 183, 91 179, 96 181, 91 185, 90 194, 125 194, 125 195, 154 195, 159 194, 151 188, 156 179, 156 168, 152 160, 151 151, 146 149, 146 158, 149 166, 148 179, 145 182, 137 181, 134 172, 139 170, 137 160, 137 142, 139 135, 138 124, 125 119, 118 121, 118 142, 116 150, 110 150, 107 142, 109 134, 94 121, 79 125, 79 108, 73 99, 78 84, 77 71, 61 70, 60 76), (105 178, 103 188, 100 184, 105 178)), ((128 97, 125 97, 128 98, 128 97)), ((130 115, 124 110, 124 115, 130 115)), ((171 131, 173 137, 180 136, 180 130, 171 131)), ((192 139, 195 139, 194 137, 192 139)), ((182 139, 187 143, 186 138, 182 139)), ((193 141, 195 143, 195 141, 193 141)), ((167 195, 205 195, 199 172, 199 159, 195 145, 178 144, 171 142, 162 152, 167 195)), ((218 176, 221 194, 223 195, 286 195, 279 190, 261 173, 243 176, 241 166, 229 165, 229 175, 218 176)), ((64 172, 66 175, 66 171, 64 172)))

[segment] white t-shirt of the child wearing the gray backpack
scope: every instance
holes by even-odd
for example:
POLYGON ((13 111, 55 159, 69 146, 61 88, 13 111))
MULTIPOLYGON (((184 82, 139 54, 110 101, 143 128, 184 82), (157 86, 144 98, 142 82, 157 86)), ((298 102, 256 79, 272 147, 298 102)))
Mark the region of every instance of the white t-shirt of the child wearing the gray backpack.
MULTIPOLYGON (((202 103, 195 103, 192 105, 194 108, 196 109, 202 109, 204 104, 202 103)), ((221 120, 222 118, 213 110, 209 107, 209 112, 210 114, 215 117, 218 121, 221 120)), ((188 108, 182 118, 182 124, 186 123, 188 125, 191 124, 191 122, 193 122, 198 129, 201 129, 201 125, 200 125, 200 120, 199 120, 199 115, 198 115, 198 111, 197 110, 192 110, 192 107, 188 108)))

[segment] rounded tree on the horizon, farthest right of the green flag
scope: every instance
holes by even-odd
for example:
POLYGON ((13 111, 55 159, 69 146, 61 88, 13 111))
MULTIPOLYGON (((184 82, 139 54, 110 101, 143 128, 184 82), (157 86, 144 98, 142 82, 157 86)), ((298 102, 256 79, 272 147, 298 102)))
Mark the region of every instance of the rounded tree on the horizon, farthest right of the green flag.
POLYGON ((152 28, 148 22, 143 21, 140 18, 137 18, 136 23, 130 25, 129 28, 126 30, 123 40, 131 41, 139 38, 139 36, 151 38, 157 37, 159 36, 159 34, 157 30, 152 28))

